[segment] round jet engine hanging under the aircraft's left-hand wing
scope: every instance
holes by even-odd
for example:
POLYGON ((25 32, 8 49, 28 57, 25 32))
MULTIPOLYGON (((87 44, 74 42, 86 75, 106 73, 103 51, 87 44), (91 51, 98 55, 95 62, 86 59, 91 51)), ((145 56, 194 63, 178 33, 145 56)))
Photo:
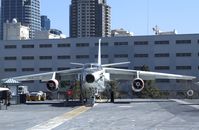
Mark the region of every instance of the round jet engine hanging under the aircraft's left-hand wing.
POLYGON ((55 92, 58 90, 59 82, 56 79, 51 79, 46 83, 46 87, 49 91, 55 92))

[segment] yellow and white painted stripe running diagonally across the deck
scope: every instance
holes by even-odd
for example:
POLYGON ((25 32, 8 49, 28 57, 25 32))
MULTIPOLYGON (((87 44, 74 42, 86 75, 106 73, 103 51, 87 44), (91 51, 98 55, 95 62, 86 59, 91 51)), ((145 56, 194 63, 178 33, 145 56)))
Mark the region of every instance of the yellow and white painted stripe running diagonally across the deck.
POLYGON ((86 112, 87 110, 89 110, 91 107, 85 107, 85 106, 81 106, 78 107, 70 112, 67 112, 61 116, 55 117, 53 119, 50 119, 46 122, 43 122, 39 125, 36 125, 32 128, 29 128, 27 130, 51 130, 61 124, 63 124, 64 122, 80 115, 81 113, 86 112))

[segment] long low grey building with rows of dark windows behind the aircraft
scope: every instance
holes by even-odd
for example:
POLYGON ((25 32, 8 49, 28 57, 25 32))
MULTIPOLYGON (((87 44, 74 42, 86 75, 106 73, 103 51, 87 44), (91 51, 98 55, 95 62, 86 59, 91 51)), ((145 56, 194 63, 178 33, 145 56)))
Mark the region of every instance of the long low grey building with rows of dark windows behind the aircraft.
MULTIPOLYGON (((96 62, 99 38, 0 41, 0 79, 76 68, 71 62, 96 62)), ((199 77, 199 34, 103 37, 102 63, 130 61, 121 68, 199 77)), ((132 79, 133 80, 133 79, 132 79)), ((39 81, 26 82, 31 90, 46 90, 39 81)), ((156 80, 162 91, 186 92, 198 86, 176 80, 156 80)))

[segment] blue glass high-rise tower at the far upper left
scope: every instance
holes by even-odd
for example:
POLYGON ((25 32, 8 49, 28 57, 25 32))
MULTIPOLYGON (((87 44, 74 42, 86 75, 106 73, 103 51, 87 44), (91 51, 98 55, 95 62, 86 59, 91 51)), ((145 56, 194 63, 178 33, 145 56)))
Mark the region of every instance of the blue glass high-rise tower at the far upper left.
POLYGON ((16 18, 22 25, 30 27, 30 38, 41 30, 40 0, 1 0, 1 39, 3 23, 16 18))

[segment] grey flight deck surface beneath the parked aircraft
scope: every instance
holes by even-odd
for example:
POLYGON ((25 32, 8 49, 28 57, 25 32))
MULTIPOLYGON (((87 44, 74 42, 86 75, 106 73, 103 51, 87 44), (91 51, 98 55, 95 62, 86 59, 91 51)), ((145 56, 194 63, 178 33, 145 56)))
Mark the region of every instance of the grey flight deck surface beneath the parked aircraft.
POLYGON ((198 130, 199 100, 118 99, 28 102, 0 110, 0 130, 198 130))

